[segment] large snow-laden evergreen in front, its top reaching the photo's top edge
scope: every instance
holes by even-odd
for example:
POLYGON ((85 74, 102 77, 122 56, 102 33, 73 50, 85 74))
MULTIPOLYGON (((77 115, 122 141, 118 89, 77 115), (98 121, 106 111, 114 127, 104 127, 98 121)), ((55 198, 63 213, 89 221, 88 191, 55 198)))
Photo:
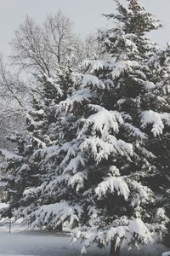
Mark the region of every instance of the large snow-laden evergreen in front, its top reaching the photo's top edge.
POLYGON ((106 17, 117 26, 100 37, 110 58, 82 63, 77 90, 59 102, 62 141, 42 161, 51 171, 24 193, 25 200, 39 195, 34 211, 25 209, 31 227, 76 228, 82 254, 93 243, 111 243, 111 256, 118 255, 122 246, 150 243, 152 232, 166 230, 153 188, 160 170, 147 144, 169 125, 169 114, 148 101, 161 88, 149 65, 156 45, 145 33, 161 25, 136 0, 116 3, 118 14, 106 17))

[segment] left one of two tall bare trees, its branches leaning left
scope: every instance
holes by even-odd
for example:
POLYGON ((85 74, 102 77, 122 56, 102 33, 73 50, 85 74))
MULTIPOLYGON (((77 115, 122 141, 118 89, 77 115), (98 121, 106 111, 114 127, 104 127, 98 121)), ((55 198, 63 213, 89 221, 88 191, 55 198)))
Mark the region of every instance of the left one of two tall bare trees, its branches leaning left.
POLYGON ((22 68, 37 67, 41 72, 49 75, 50 53, 48 46, 44 44, 43 32, 40 26, 26 17, 24 24, 15 31, 12 41, 14 55, 11 56, 14 64, 22 68))

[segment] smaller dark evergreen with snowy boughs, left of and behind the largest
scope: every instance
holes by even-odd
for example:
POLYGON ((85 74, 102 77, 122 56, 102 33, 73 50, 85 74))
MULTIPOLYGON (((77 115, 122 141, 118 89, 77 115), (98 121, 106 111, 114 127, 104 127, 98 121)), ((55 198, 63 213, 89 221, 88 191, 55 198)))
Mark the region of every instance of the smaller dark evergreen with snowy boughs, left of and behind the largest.
MULTIPOLYGON (((9 217, 23 217, 41 204, 38 188, 54 172, 54 167, 43 159, 51 148, 57 147, 56 144, 62 141, 59 134, 61 116, 57 109, 58 103, 66 99, 73 90, 71 74, 71 67, 67 66, 59 68, 57 76, 53 78, 44 74, 37 77, 38 86, 32 90, 31 106, 26 114, 27 136, 25 138, 17 134, 12 139, 18 147, 16 154, 22 160, 8 159, 6 168, 9 208, 4 214, 9 217), (31 195, 29 191, 33 190, 31 195)), ((42 198, 46 203, 53 201, 52 197, 47 199, 43 195, 42 198)))

